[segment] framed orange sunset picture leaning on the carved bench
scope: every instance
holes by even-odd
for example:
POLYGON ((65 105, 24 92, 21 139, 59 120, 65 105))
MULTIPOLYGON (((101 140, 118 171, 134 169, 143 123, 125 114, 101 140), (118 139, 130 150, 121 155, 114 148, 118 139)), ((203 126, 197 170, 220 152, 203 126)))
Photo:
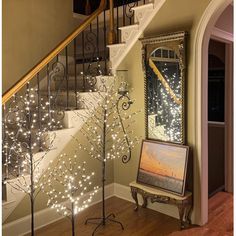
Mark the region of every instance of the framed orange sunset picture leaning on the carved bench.
POLYGON ((183 196, 189 147, 143 140, 137 182, 183 196))

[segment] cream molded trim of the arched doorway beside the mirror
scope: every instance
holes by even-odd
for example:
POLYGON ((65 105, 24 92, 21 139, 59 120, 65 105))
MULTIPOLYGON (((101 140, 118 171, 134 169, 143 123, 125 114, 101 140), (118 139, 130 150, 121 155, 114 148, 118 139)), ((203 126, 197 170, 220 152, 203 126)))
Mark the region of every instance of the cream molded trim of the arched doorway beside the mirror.
POLYGON ((194 38, 195 156, 200 169, 201 225, 208 221, 208 45, 213 27, 232 0, 212 0, 197 26, 194 38))

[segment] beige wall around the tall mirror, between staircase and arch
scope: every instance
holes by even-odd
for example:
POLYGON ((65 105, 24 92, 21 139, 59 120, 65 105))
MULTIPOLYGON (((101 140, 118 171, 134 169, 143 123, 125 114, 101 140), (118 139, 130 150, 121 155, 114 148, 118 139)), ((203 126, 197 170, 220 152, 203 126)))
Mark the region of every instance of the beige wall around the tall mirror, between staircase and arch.
MULTIPOLYGON (((188 31, 187 43, 187 73, 186 73, 186 135, 187 144, 194 149, 194 129, 196 125, 192 122, 194 114, 195 98, 194 94, 195 81, 192 78, 193 74, 193 40, 196 26, 199 23, 200 17, 205 10, 210 0, 167 0, 164 6, 156 14, 152 22, 149 24, 144 32, 145 36, 157 36, 158 34, 175 32, 175 31, 188 31)), ((141 64, 141 43, 137 42, 126 58, 123 60, 119 69, 129 70, 129 82, 131 87, 134 88, 131 94, 132 98, 136 99, 135 108, 144 109, 144 74, 141 64)), ((134 109, 135 109, 134 108, 134 109)), ((140 114, 135 125, 136 135, 141 135, 145 138, 145 121, 144 113, 140 114)), ((132 152, 131 161, 123 165, 119 161, 114 162, 114 180, 116 183, 128 185, 131 181, 136 179, 138 161, 141 149, 141 142, 132 152)), ((194 198, 199 199, 198 191, 200 189, 199 178, 199 160, 194 159, 194 198)), ((192 216, 193 222, 200 224, 200 205, 199 201, 194 202, 194 211, 192 216)))

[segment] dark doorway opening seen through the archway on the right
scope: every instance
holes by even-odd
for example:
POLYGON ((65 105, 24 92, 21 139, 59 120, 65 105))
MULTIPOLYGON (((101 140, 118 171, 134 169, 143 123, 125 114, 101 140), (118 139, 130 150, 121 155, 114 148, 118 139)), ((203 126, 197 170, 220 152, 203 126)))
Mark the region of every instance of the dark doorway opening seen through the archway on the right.
POLYGON ((225 43, 208 49, 208 197, 225 191, 225 43))

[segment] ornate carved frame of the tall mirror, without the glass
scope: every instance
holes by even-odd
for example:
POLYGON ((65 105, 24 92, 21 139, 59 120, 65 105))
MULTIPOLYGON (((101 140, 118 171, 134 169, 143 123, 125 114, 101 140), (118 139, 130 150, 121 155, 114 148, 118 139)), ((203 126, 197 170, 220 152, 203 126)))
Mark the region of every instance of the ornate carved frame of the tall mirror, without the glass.
MULTIPOLYGON (((181 113, 181 140, 179 142, 169 141, 172 143, 185 144, 185 70, 186 70, 186 37, 187 32, 181 31, 169 33, 157 37, 148 37, 139 39, 142 42, 142 66, 144 72, 144 93, 145 93, 145 134, 146 139, 154 139, 148 137, 148 94, 147 94, 147 76, 146 61, 156 48, 171 48, 179 58, 180 78, 182 80, 182 113, 181 113)), ((154 139, 160 140, 161 139, 154 139)))

